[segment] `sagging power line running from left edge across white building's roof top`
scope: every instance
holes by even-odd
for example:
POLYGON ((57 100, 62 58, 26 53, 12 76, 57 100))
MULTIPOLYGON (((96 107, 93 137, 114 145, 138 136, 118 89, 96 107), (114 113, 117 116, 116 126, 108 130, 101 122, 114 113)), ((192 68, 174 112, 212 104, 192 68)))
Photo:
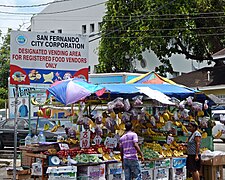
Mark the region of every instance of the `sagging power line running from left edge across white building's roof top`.
POLYGON ((97 4, 93 4, 93 5, 89 5, 89 6, 84 6, 84 7, 80 7, 80 8, 75 8, 75 9, 68 9, 68 10, 63 10, 63 11, 55 11, 55 12, 49 12, 49 13, 14 13, 14 12, 6 12, 6 11, 0 11, 0 13, 3 14, 15 14, 15 15, 33 15, 33 14, 39 14, 39 15, 47 15, 47 14, 61 14, 61 13, 66 13, 66 12, 73 12, 73 11, 78 11, 78 10, 83 10, 83 9, 87 9, 87 8, 91 8, 91 7, 95 7, 95 6, 99 6, 101 4, 105 4, 106 2, 101 2, 101 3, 97 3, 97 4))

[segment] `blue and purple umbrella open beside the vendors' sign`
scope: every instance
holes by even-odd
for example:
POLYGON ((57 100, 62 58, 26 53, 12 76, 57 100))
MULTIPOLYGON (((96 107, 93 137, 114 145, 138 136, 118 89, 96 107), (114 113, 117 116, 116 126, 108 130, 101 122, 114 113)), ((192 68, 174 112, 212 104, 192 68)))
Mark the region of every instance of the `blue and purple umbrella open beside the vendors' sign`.
POLYGON ((81 78, 71 78, 63 81, 57 81, 47 89, 57 101, 69 105, 95 93, 101 96, 105 88, 101 85, 94 85, 81 78))

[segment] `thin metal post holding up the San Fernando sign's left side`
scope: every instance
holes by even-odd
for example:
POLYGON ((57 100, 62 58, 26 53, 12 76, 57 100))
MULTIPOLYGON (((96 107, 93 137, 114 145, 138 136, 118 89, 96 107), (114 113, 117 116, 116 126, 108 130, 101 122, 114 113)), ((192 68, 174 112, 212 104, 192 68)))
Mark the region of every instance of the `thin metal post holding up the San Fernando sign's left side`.
POLYGON ((15 118, 14 118, 14 159, 13 159, 13 180, 16 180, 16 157, 17 157, 17 117, 18 117, 18 85, 15 94, 15 118))

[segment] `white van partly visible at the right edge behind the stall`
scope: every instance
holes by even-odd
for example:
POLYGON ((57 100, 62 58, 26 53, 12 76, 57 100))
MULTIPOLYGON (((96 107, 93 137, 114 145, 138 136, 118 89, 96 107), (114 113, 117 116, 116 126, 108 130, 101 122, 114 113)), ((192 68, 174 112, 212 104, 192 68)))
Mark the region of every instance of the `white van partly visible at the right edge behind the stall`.
POLYGON ((212 136, 222 131, 222 139, 225 142, 225 110, 212 110, 212 117, 215 120, 215 126, 212 128, 212 136))

